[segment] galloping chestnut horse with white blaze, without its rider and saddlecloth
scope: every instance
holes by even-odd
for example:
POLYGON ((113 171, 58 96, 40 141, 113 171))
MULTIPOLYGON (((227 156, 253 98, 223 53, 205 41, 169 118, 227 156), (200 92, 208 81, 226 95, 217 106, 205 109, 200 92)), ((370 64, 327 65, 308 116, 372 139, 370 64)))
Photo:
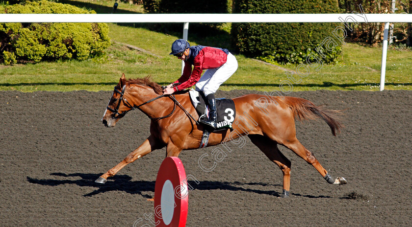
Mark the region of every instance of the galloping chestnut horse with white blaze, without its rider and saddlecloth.
MULTIPOLYGON (((102 122, 106 127, 116 122, 128 111, 139 109, 152 119, 150 136, 123 161, 103 174, 96 182, 104 183, 130 162, 150 152, 166 147, 167 157, 178 157, 182 150, 197 149, 201 143, 204 127, 194 119, 198 117, 189 95, 162 95, 162 88, 149 77, 126 80, 125 74, 115 87, 102 122), (191 117, 194 116, 194 117, 191 117)), ((232 132, 211 133, 207 146, 224 144, 240 136, 248 136, 252 142, 283 172, 282 197, 289 197, 290 160, 279 151, 278 144, 293 151, 311 164, 324 179, 333 184, 344 184, 346 180, 331 175, 320 165, 312 152, 296 138, 295 119, 322 118, 331 128, 332 134, 340 132, 341 125, 331 114, 321 110, 312 102, 296 97, 264 96, 248 94, 233 99, 236 116, 232 132)), ((197 119, 197 118, 196 118, 197 119)))

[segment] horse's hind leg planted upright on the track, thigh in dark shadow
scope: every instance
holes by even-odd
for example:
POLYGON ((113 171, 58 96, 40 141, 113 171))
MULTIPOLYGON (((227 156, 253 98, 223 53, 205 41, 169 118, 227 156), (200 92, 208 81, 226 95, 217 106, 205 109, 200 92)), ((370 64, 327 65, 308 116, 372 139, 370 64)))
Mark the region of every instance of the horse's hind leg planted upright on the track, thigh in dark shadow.
POLYGON ((277 142, 260 135, 249 135, 250 140, 255 144, 268 159, 279 166, 283 172, 282 198, 289 197, 290 187, 290 160, 284 157, 279 151, 277 142))

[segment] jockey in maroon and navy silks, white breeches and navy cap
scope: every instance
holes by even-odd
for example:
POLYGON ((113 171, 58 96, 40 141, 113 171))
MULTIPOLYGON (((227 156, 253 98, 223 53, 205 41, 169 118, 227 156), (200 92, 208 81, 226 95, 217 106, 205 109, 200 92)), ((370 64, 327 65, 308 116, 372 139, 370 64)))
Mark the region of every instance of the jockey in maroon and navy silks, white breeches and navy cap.
POLYGON ((228 49, 194 45, 190 46, 186 40, 178 39, 172 44, 170 55, 184 61, 183 74, 174 83, 181 83, 172 88, 169 84, 163 94, 172 94, 192 87, 196 84, 196 91, 203 92, 208 108, 209 118, 199 118, 199 121, 216 129, 216 100, 214 93, 237 69, 236 58, 228 49), (193 65, 193 70, 192 70, 193 65), (201 76, 203 70, 206 72, 201 76))

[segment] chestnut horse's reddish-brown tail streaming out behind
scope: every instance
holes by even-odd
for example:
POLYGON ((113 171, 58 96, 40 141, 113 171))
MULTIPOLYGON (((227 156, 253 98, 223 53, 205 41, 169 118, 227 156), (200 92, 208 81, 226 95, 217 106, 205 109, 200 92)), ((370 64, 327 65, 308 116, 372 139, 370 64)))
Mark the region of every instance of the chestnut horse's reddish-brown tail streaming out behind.
POLYGON ((322 118, 331 128, 332 134, 340 133, 342 125, 337 121, 336 114, 340 114, 339 111, 323 110, 321 107, 315 106, 309 100, 296 97, 284 97, 282 100, 292 110, 292 113, 296 118, 302 119, 314 119, 316 117, 322 118))

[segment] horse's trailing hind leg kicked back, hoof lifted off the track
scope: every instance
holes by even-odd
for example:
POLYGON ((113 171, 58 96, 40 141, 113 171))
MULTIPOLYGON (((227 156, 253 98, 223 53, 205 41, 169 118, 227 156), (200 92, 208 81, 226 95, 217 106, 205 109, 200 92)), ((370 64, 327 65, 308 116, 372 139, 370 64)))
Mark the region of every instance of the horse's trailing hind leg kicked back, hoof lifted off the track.
POLYGON ((322 167, 322 165, 319 163, 319 161, 313 156, 313 153, 310 152, 308 149, 306 149, 294 136, 292 139, 288 139, 283 142, 283 145, 292 150, 296 155, 304 159, 306 162, 311 164, 315 169, 322 175, 322 177, 328 182, 328 183, 334 183, 334 184, 345 184, 347 183, 346 180, 343 177, 338 177, 336 179, 333 179, 331 175, 322 167))

